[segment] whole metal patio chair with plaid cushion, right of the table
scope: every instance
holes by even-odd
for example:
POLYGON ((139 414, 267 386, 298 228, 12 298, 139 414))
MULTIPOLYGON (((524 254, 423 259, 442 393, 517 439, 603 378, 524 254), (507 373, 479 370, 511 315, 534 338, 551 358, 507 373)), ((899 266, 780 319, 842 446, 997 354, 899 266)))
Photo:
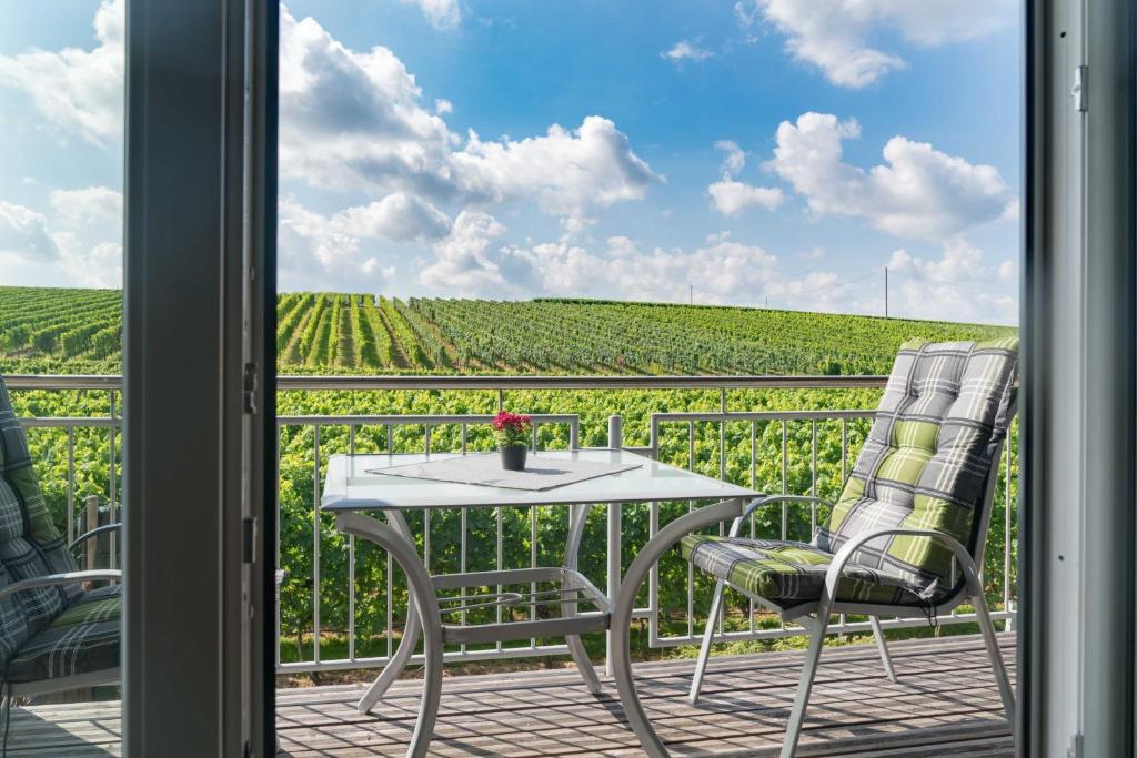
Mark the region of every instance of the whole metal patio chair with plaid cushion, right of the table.
POLYGON ((1014 694, 978 574, 1014 416, 1016 351, 1015 339, 905 343, 836 505, 810 495, 763 497, 735 520, 729 536, 681 540, 684 558, 719 580, 691 702, 698 700, 725 586, 810 632, 783 757, 796 750, 831 614, 869 616, 885 672, 895 681, 879 617, 932 618, 970 600, 1014 723, 1014 694), (739 536, 755 509, 785 500, 832 506, 812 542, 739 536))

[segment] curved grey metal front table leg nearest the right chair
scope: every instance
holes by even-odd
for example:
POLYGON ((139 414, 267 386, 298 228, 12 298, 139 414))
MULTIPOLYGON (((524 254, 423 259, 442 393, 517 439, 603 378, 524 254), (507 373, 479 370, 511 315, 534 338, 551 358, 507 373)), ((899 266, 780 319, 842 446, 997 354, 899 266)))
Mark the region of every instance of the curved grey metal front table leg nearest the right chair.
POLYGON ((742 513, 742 500, 723 500, 706 508, 699 508, 689 514, 680 516, 675 520, 664 526, 652 540, 639 551, 636 560, 628 568, 623 582, 620 584, 620 594, 614 598, 612 610, 612 658, 613 673, 616 678, 616 690, 620 692, 620 703, 628 715, 628 724, 639 738, 644 751, 648 756, 662 757, 667 755, 667 749, 663 740, 652 728, 639 695, 636 693, 636 681, 632 678, 631 651, 628 644, 628 634, 632 624, 632 610, 636 607, 636 592, 647 577, 652 566, 663 557, 680 539, 691 532, 717 524, 731 518, 737 518, 742 513))

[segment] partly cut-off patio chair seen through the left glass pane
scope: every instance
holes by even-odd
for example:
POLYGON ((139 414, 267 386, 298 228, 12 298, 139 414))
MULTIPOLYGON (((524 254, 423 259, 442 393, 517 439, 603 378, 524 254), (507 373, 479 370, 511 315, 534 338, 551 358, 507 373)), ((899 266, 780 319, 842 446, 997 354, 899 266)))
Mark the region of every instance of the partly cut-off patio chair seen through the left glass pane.
POLYGON ((0 722, 7 747, 11 699, 118 681, 118 570, 78 570, 70 550, 118 527, 91 530, 70 544, 51 523, 24 432, 0 378, 0 722))

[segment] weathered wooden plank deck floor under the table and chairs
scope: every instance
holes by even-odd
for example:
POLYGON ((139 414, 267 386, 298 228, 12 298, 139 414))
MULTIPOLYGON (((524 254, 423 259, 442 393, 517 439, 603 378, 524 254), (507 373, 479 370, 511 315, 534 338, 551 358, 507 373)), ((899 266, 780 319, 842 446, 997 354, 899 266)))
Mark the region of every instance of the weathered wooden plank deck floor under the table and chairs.
MULTIPOLYGON (((1014 638, 1001 638, 1014 669, 1014 638)), ((1013 743, 979 636, 891 645, 899 683, 875 649, 825 651, 806 716, 803 756, 1010 756, 1013 743)), ((697 707, 686 700, 690 660, 637 667, 640 693, 677 756, 777 755, 792 701, 798 652, 712 659, 697 707)), ((1013 675, 1013 674, 1012 674, 1013 675)), ((611 681, 594 698, 573 669, 448 678, 432 755, 641 755, 611 681)), ((281 690, 282 755, 401 756, 414 727, 418 683, 397 683, 376 715, 362 716, 362 688, 281 690)), ((15 709, 9 756, 118 755, 118 706, 15 709)))

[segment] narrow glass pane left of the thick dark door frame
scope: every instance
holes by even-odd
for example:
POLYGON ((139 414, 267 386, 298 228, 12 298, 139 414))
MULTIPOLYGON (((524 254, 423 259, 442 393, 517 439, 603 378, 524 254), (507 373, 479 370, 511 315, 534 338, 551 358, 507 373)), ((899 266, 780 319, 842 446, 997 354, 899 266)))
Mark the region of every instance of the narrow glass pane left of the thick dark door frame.
MULTIPOLYGON (((0 520, 11 524, 11 509, 26 518, 0 538, 0 592, 20 578, 122 566, 113 525, 130 513, 119 380, 124 14, 124 0, 5 5, 0 377, 20 432, 5 441, 0 520)), ((119 589, 102 576, 13 595, 16 603, 0 598, 9 751, 117 753, 119 589)))

